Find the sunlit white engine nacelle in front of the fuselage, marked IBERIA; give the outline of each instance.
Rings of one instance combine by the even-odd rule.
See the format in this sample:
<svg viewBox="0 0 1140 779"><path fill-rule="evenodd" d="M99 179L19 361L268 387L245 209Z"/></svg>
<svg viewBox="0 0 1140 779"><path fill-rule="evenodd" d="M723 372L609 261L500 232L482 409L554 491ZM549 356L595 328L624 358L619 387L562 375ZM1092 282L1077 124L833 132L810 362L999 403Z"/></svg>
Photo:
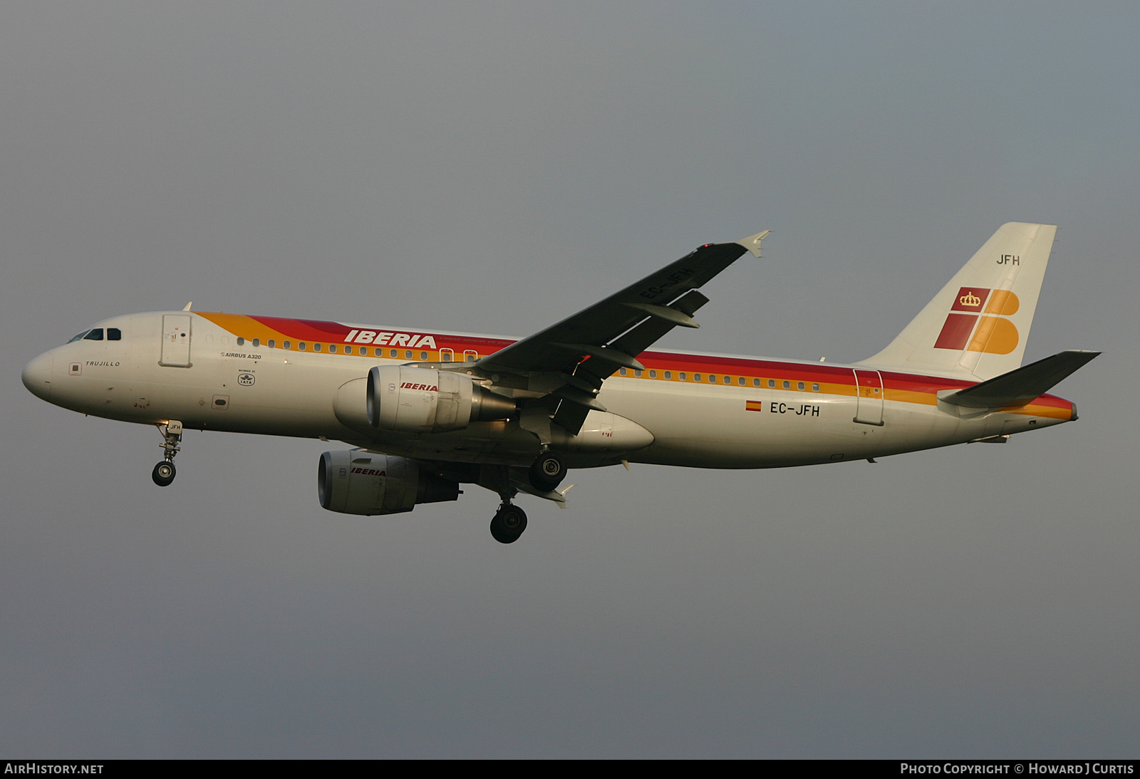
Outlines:
<svg viewBox="0 0 1140 779"><path fill-rule="evenodd" d="M376 366L368 371L368 423L398 433L459 430L473 421L506 419L514 401L469 376L414 366Z"/></svg>

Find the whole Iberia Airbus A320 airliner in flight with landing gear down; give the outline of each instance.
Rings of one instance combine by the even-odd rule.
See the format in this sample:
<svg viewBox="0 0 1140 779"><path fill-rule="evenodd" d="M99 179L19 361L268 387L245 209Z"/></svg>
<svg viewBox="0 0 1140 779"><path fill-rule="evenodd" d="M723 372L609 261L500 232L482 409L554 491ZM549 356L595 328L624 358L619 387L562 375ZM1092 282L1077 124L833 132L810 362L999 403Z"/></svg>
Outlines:
<svg viewBox="0 0 1140 779"><path fill-rule="evenodd" d="M502 499L500 543L527 528L522 492L565 507L570 468L646 462L776 468L1009 436L1077 418L1047 394L1099 352L1021 366L1057 228L1002 226L886 348L852 364L650 347L698 327L699 292L768 230L706 244L600 303L514 341L221 312L114 317L36 356L36 396L162 434L152 478L174 481L182 432L341 441L320 456L320 506L356 515Z"/></svg>

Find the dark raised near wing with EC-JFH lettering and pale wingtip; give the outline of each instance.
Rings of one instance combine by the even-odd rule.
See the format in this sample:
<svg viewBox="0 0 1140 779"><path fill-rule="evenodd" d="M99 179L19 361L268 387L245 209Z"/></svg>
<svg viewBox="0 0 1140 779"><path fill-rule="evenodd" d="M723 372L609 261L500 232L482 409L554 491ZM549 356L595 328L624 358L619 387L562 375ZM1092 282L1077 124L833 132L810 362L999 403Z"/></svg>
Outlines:
<svg viewBox="0 0 1140 779"><path fill-rule="evenodd" d="M516 395L548 399L543 404L546 413L539 416L553 409L553 421L576 435L591 409L605 410L596 400L602 382L619 368L641 369L637 355L674 327L698 327L692 315L708 302L698 288L746 252L760 256L760 240L768 232L706 244L604 301L487 355L474 368L497 386L519 391Z"/></svg>

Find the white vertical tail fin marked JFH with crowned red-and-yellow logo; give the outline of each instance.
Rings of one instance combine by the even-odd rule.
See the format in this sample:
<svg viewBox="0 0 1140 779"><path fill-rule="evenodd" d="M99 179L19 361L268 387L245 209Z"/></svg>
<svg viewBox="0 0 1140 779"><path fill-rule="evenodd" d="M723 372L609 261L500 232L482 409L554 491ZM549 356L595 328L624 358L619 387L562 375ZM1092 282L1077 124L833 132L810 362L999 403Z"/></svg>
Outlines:
<svg viewBox="0 0 1140 779"><path fill-rule="evenodd" d="M857 364L987 379L1020 367L1054 224L1002 224L887 348Z"/></svg>

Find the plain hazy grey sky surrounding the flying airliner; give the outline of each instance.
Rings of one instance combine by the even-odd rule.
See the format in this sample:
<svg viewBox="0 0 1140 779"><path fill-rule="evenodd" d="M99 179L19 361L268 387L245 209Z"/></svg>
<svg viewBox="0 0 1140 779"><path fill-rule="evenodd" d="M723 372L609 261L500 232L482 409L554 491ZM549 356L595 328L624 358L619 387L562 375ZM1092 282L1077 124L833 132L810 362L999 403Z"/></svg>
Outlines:
<svg viewBox="0 0 1140 779"><path fill-rule="evenodd" d="M34 756L1135 756L1134 3L10 3L0 745ZM99 319L526 335L715 240L663 344L857 360L1007 221L1074 425L329 514L329 444L27 393Z"/></svg>

